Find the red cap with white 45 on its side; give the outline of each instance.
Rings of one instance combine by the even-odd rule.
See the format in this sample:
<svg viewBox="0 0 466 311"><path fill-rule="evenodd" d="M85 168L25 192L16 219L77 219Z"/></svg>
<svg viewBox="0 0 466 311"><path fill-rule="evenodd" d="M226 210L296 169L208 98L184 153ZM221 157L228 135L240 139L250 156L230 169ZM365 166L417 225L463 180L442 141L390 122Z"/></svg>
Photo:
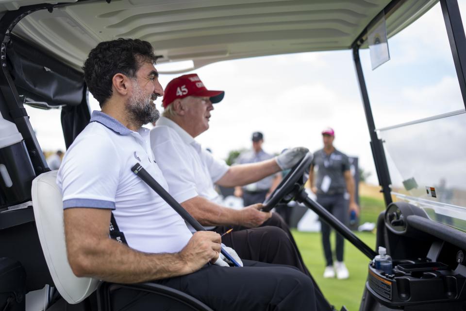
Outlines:
<svg viewBox="0 0 466 311"><path fill-rule="evenodd" d="M165 88L162 105L164 108L177 98L187 96L205 96L210 97L212 104L216 104L223 99L224 91L209 91L205 88L196 73L185 74L181 77L171 80Z"/></svg>

